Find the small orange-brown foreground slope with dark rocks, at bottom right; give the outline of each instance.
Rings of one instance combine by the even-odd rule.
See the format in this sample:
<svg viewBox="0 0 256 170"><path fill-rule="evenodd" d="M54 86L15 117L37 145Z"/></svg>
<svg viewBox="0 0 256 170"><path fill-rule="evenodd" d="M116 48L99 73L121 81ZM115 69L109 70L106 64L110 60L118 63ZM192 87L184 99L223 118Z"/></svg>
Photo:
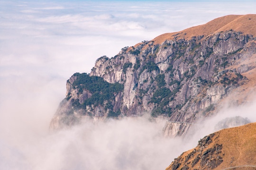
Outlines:
<svg viewBox="0 0 256 170"><path fill-rule="evenodd" d="M166 170L255 170L256 123L223 129L174 159Z"/></svg>

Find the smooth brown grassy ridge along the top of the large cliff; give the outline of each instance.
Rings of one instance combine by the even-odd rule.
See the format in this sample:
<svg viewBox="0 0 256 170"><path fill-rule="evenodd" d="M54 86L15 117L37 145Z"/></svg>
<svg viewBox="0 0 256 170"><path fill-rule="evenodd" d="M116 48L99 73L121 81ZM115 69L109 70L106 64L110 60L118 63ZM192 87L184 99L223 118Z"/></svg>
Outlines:
<svg viewBox="0 0 256 170"><path fill-rule="evenodd" d="M240 31L243 34L252 34L256 35L256 14L247 14L247 15L228 15L224 17L219 17L213 19L212 21L200 25L187 28L180 32L174 33L165 33L155 37L152 41L155 44L160 44L165 40L174 40L174 39L190 39L193 36L204 35L208 36L210 34L234 30Z"/></svg>

